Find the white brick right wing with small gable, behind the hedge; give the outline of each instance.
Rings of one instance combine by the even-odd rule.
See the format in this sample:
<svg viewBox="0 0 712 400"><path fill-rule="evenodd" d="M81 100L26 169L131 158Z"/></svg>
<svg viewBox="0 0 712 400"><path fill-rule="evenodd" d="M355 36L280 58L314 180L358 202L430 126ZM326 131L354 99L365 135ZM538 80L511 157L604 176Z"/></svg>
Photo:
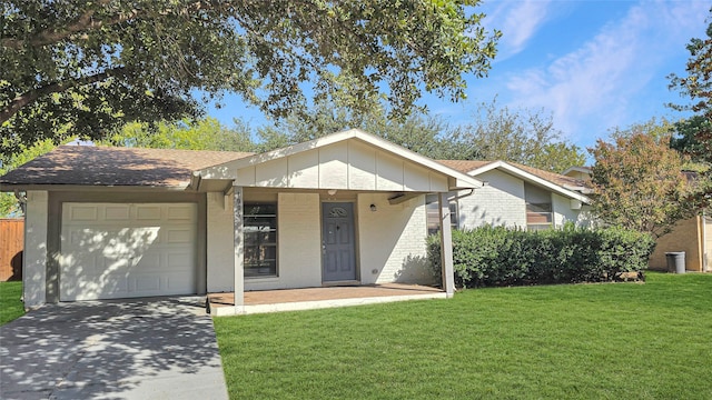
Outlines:
<svg viewBox="0 0 712 400"><path fill-rule="evenodd" d="M591 188L584 180L505 161L441 160L484 182L476 191L451 193L452 226L473 229L484 224L527 230L561 228L566 222L591 226ZM432 212L437 211L436 199ZM432 213L431 230L437 219Z"/></svg>

